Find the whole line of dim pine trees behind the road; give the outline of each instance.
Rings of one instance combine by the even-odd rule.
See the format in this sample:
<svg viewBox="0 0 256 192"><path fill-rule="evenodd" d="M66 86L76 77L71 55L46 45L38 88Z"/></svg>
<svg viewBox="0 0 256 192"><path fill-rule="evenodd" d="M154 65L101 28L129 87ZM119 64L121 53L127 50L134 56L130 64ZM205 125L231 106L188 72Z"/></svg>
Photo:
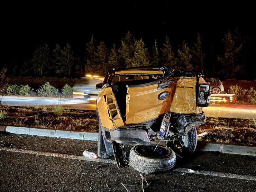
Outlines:
<svg viewBox="0 0 256 192"><path fill-rule="evenodd" d="M217 55L213 49L205 49L200 34L195 38L193 46L183 40L182 45L175 50L166 36L162 46L155 40L150 51L143 39L136 39L129 31L121 39L120 47L113 43L111 48L103 41L97 44L92 35L82 57L75 57L68 43L63 48L57 44L53 50L49 50L47 44L39 45L33 57L22 65L20 75L81 77L89 73L105 76L113 68L165 65L171 69L196 71L223 80L249 80L248 66L254 62L248 52L250 43L249 37L241 36L238 29L234 33L228 31L222 39L223 51Z"/></svg>

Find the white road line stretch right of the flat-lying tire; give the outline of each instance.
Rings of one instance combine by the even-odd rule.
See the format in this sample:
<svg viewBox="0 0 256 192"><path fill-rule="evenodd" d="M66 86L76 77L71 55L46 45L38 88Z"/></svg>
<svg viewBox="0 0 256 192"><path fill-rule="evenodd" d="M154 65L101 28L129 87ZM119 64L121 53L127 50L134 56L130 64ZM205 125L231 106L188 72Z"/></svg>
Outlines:
<svg viewBox="0 0 256 192"><path fill-rule="evenodd" d="M251 175L239 175L234 173L222 173L222 172L203 171L203 170L193 171L191 169L180 168L180 167L174 169L173 171L256 181L256 176L251 176Z"/></svg>

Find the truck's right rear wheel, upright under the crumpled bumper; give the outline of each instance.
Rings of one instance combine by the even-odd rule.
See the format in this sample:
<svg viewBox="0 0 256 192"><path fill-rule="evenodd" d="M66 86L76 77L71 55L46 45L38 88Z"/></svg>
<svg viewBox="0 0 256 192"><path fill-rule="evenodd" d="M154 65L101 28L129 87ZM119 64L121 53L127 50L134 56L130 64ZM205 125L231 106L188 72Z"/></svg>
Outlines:
<svg viewBox="0 0 256 192"><path fill-rule="evenodd" d="M182 136L182 140L176 143L176 147L179 148L184 155L191 154L195 152L197 140L196 128L193 127L189 130L187 135Z"/></svg>

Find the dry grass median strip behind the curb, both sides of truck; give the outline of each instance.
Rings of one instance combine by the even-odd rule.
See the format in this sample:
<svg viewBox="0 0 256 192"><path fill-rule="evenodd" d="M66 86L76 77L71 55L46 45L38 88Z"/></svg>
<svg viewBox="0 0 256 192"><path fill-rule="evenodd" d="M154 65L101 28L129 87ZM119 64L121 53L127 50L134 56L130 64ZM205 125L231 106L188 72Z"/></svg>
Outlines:
<svg viewBox="0 0 256 192"><path fill-rule="evenodd" d="M95 111L64 109L61 105L3 107L0 125L98 132ZM208 117L196 129L202 134L198 137L200 141L256 146L256 119Z"/></svg>

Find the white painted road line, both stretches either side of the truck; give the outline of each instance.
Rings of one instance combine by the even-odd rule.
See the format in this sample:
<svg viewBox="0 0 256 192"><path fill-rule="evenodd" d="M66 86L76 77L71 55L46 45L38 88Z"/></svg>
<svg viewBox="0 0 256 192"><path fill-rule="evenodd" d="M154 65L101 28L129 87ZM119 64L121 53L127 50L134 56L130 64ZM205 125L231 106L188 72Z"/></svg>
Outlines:
<svg viewBox="0 0 256 192"><path fill-rule="evenodd" d="M18 152L18 153L28 153L28 154L34 154L34 155L61 157L61 158L68 158L68 159L77 159L77 160L83 160L83 161L94 161L94 162L116 164L116 161L112 160L112 159L102 159L102 158L92 159L92 158L88 158L88 157L84 157L84 156L40 152L40 151L34 151L34 150L16 149L16 148L9 148L9 147L0 147L0 150L10 151L10 152ZM188 168L180 168L180 167L175 168L172 171L256 181L256 176L251 176L251 175L239 175L239 174L233 174L233 173L222 173L222 172L203 171L203 170L193 171Z"/></svg>

